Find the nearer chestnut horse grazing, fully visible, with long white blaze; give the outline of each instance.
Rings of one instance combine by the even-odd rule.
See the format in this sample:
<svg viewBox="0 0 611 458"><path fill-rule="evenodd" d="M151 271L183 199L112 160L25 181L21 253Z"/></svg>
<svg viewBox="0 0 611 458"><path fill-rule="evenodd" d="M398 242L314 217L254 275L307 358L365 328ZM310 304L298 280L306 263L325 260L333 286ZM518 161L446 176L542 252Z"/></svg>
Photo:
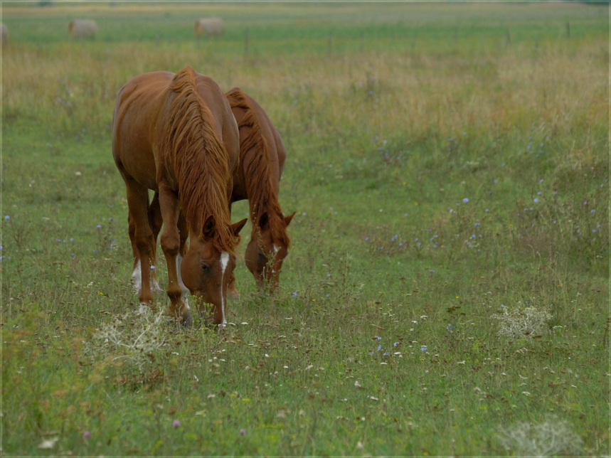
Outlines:
<svg viewBox="0 0 611 458"><path fill-rule="evenodd" d="M161 249L168 266L169 314L190 322L191 292L200 314L204 303L212 304L213 323L224 327L235 247L246 220L232 225L230 219L239 145L238 127L223 92L191 67L130 80L117 95L112 154L127 188L133 277L141 310L153 302L153 228L159 218L155 223L150 211L152 189L159 196L164 223Z"/></svg>

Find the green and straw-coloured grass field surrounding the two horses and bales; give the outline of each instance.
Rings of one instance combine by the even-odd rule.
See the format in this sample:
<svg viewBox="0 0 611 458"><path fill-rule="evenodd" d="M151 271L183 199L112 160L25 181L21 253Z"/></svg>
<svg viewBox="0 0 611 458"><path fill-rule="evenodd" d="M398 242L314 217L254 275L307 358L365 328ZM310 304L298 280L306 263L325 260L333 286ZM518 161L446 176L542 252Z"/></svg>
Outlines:
<svg viewBox="0 0 611 458"><path fill-rule="evenodd" d="M4 454L609 454L608 18L4 3ZM185 65L265 108L297 211L274 296L243 230L222 332L134 314L110 149L119 87Z"/></svg>

